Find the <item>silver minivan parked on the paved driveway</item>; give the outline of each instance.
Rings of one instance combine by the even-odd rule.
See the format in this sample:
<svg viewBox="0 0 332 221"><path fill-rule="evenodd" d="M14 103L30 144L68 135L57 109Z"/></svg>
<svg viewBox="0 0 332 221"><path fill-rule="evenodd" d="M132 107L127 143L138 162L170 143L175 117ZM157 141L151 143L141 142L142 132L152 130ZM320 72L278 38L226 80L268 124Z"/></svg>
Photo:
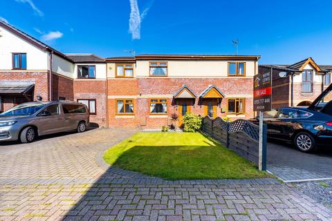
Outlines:
<svg viewBox="0 0 332 221"><path fill-rule="evenodd" d="M27 102L0 114L0 141L33 142L39 135L84 132L89 126L85 104L68 101Z"/></svg>

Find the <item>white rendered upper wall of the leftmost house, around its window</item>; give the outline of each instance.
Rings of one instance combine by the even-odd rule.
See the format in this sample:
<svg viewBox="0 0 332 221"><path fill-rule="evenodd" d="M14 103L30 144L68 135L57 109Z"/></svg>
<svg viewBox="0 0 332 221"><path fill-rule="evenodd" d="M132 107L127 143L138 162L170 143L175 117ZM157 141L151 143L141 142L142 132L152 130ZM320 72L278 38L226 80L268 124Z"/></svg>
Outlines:
<svg viewBox="0 0 332 221"><path fill-rule="evenodd" d="M48 52L0 27L0 70L12 70L12 53L26 53L27 70L48 70Z"/></svg>

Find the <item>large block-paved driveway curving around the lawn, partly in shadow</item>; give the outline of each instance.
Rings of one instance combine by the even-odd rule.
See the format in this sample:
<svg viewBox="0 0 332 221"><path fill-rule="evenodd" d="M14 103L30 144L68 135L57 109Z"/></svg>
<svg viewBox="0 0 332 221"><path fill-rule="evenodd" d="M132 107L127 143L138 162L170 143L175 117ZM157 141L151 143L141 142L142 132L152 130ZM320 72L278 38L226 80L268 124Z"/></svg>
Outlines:
<svg viewBox="0 0 332 221"><path fill-rule="evenodd" d="M107 166L135 130L101 128L0 146L0 220L332 220L274 179L165 181Z"/></svg>

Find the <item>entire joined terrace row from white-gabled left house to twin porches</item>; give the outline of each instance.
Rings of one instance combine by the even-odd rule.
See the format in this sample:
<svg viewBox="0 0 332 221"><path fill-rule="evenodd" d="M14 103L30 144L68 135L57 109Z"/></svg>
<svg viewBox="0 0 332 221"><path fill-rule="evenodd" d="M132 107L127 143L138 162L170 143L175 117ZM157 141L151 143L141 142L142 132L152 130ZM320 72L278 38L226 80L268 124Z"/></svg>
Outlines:
<svg viewBox="0 0 332 221"><path fill-rule="evenodd" d="M160 128L185 113L249 118L259 56L64 54L0 21L0 111L37 99L89 107L99 126Z"/></svg>

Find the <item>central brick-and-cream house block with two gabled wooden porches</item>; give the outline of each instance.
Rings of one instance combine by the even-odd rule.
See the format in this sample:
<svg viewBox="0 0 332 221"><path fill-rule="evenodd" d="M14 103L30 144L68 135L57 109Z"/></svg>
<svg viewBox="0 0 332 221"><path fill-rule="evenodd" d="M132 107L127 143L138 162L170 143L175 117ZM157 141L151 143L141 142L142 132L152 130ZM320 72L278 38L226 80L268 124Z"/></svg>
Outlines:
<svg viewBox="0 0 332 221"><path fill-rule="evenodd" d="M253 117L252 84L259 56L137 55L107 61L109 125L169 125L187 112Z"/></svg>

